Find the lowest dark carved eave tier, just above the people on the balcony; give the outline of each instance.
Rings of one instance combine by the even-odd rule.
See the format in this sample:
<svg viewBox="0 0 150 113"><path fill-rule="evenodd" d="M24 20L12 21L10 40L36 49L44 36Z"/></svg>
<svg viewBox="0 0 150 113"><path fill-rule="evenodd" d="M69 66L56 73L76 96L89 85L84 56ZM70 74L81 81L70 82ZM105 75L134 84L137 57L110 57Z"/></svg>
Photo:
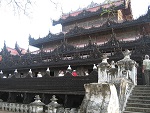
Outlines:
<svg viewBox="0 0 150 113"><path fill-rule="evenodd" d="M64 41L51 52L41 51L39 54L26 53L22 56L2 55L0 70L47 67L47 65L56 67L59 64L68 65L71 63L83 65L83 62L84 64L93 64L101 60L102 53L108 52L111 60L122 58L122 50L125 49L132 50L131 57L133 59L141 59L143 54L150 54L150 36L140 36L134 41L118 41L113 32L109 41L104 45L96 45L89 40L86 46L79 48L69 45L67 41Z"/></svg>

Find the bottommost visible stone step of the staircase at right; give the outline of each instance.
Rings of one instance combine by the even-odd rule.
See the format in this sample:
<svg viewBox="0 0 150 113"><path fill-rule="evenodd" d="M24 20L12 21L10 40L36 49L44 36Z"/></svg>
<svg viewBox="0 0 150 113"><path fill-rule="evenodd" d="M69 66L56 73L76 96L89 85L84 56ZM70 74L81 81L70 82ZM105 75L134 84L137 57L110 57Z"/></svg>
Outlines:
<svg viewBox="0 0 150 113"><path fill-rule="evenodd" d="M140 108L140 107L126 107L126 111L131 111L131 112L149 112L150 113L150 108Z"/></svg>

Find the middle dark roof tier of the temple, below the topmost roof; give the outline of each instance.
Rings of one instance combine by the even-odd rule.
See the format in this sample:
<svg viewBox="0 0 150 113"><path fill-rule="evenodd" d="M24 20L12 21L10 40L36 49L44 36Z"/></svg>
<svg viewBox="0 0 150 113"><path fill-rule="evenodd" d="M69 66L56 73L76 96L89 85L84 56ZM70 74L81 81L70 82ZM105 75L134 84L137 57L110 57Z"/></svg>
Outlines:
<svg viewBox="0 0 150 113"><path fill-rule="evenodd" d="M48 42L53 42L53 41L61 41L65 39L70 39L70 38L76 38L77 36L82 36L82 35L87 35L89 36L90 34L93 33L110 33L111 29L115 30L124 30L125 28L142 28L145 24L148 24L150 22L150 10L147 12L147 14L140 16L136 20L128 20L128 21L123 21L123 22L116 22L113 20L108 19L105 21L102 25L99 25L97 27L91 27L88 29L82 28L75 26L73 29L71 29L69 32L63 34L49 34L46 37L39 38L39 39L34 39L31 36L29 37L29 44L35 47L41 48L42 45ZM148 30L148 29L147 29Z"/></svg>

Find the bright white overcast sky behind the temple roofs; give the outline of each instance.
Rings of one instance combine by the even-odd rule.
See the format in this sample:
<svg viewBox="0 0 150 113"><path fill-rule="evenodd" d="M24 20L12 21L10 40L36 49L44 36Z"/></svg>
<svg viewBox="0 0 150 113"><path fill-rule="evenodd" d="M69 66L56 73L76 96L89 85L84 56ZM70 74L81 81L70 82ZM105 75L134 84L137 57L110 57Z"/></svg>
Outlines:
<svg viewBox="0 0 150 113"><path fill-rule="evenodd" d="M32 0L31 0L32 1ZM61 31L61 26L53 27L51 19L58 19L63 12L74 11L80 7L88 6L92 0L53 0L59 4L55 7L49 0L36 0L27 10L28 16L20 13L15 14L13 9L7 4L0 6L0 48L3 47L4 40L6 45L14 48L15 43L25 49L28 48L28 37L31 34L34 38L44 37L49 31L57 33ZM93 0L100 3L104 0ZM134 18L145 14L150 5L150 0L131 0ZM31 48L31 47L30 47Z"/></svg>

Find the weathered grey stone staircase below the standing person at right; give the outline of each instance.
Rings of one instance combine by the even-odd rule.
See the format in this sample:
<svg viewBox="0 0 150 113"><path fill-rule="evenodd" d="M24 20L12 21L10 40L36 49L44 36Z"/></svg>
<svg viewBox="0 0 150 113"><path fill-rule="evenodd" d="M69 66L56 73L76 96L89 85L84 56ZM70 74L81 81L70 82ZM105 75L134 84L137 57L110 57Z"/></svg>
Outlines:
<svg viewBox="0 0 150 113"><path fill-rule="evenodd" d="M123 113L150 113L150 86L135 86Z"/></svg>

